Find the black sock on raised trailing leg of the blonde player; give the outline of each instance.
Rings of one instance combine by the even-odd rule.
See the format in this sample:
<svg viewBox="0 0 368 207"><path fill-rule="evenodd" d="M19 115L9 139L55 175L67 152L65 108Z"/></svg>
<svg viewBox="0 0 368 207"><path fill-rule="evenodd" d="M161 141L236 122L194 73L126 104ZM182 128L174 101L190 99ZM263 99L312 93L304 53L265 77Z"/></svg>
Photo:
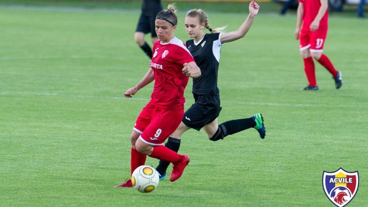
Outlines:
<svg viewBox="0 0 368 207"><path fill-rule="evenodd" d="M220 124L218 127L221 128L221 133L223 137L225 137L227 135L235 134L245 129L254 128L255 126L256 122L251 117L245 119L230 120Z"/></svg>

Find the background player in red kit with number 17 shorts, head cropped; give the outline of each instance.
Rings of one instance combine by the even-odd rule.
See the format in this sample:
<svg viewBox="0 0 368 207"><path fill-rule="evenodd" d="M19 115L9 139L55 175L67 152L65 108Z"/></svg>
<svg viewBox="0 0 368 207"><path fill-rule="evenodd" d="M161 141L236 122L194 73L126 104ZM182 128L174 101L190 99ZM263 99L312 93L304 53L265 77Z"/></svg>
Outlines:
<svg viewBox="0 0 368 207"><path fill-rule="evenodd" d="M309 85L303 90L318 90L313 58L331 73L335 79L336 89L342 86L341 72L337 71L330 59L322 54L328 29L327 9L327 0L299 0L296 12L295 39L300 40L299 50L304 60L304 71L309 82Z"/></svg>

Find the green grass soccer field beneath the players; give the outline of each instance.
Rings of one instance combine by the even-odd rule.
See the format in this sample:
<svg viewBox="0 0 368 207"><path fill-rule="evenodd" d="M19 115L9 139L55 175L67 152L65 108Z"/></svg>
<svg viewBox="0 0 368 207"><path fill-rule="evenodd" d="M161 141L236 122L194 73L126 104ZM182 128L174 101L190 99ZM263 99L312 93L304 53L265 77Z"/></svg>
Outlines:
<svg viewBox="0 0 368 207"><path fill-rule="evenodd" d="M129 177L131 130L152 92L122 96L148 66L133 42L138 15L0 8L0 206L331 207L322 173L340 167L360 175L349 206L368 206L368 21L338 15L324 52L342 71L340 90L316 64L320 90L300 91L295 17L260 13L245 38L222 47L219 122L262 112L266 138L248 129L211 142L190 130L181 179L150 194L113 188ZM209 12L211 26L227 31L246 15Z"/></svg>

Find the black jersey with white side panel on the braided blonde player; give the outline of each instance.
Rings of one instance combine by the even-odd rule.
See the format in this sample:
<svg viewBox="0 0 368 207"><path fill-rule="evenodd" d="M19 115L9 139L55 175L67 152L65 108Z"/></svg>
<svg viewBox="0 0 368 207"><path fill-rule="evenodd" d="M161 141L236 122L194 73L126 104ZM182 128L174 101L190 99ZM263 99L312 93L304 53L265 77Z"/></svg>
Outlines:
<svg viewBox="0 0 368 207"><path fill-rule="evenodd" d="M218 95L217 73L220 62L220 34L205 34L202 41L197 45L194 40L186 41L186 47L194 57L202 75L199 78L193 78L192 92L196 94Z"/></svg>

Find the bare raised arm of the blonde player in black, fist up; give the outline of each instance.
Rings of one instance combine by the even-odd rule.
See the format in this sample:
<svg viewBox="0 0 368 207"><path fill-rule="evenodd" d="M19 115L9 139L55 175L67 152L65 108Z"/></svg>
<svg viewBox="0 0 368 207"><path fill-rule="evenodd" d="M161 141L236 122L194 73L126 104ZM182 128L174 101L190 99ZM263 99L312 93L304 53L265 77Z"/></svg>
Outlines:
<svg viewBox="0 0 368 207"><path fill-rule="evenodd" d="M249 31L250 27L253 24L254 19L256 18L256 15L258 14L258 10L260 9L260 6L255 0L252 0L249 3L249 15L247 19L244 21L244 23L237 29L237 31L232 31L228 33L221 34L221 44L232 42L237 39L240 39L245 36L245 34Z"/></svg>

